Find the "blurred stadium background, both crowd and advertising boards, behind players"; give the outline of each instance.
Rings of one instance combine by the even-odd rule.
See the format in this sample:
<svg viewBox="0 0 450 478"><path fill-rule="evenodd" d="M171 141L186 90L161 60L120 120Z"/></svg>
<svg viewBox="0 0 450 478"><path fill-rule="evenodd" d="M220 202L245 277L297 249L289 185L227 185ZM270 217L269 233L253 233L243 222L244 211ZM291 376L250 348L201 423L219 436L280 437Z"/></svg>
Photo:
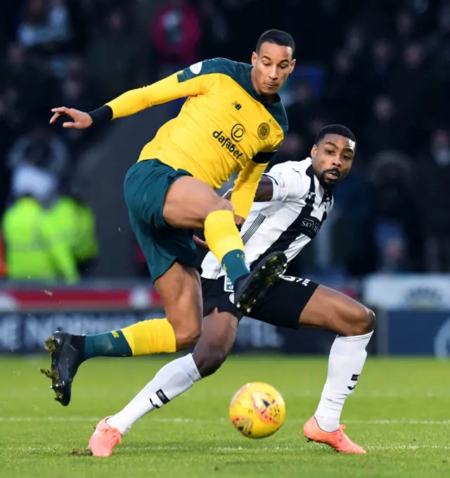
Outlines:
<svg viewBox="0 0 450 478"><path fill-rule="evenodd" d="M49 128L50 108L89 111L205 58L250 61L259 34L273 27L297 43L283 90L290 132L276 161L306 157L331 122L359 140L333 214L290 273L375 308L373 353L449 356L446 0L280 0L276 11L265 0L1 2L1 214L27 188L39 201L77 189L94 211L99 248L72 285L18 283L4 264L0 351L42 351L58 327L94 333L161 316L122 182L182 101L82 134ZM327 354L332 340L247 320L236 351Z"/></svg>

